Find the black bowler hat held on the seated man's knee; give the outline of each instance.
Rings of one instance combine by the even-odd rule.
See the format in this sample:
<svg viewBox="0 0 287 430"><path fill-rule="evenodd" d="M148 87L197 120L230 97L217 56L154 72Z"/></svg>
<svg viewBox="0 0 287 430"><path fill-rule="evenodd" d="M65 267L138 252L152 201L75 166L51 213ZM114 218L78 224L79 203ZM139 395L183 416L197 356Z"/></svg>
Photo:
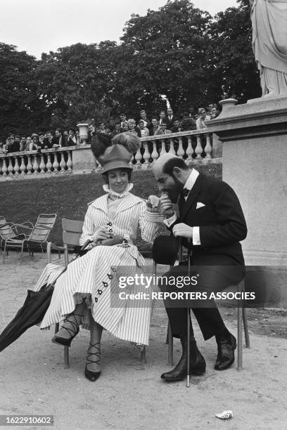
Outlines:
<svg viewBox="0 0 287 430"><path fill-rule="evenodd" d="M179 254L179 237L155 237L152 254L155 263L173 266Z"/></svg>

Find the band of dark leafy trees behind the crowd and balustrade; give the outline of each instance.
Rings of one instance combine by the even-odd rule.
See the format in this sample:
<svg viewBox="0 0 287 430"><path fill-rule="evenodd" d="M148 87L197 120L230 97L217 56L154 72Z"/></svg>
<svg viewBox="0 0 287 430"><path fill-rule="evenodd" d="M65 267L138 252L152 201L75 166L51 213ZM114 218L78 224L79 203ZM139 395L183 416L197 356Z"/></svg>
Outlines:
<svg viewBox="0 0 287 430"><path fill-rule="evenodd" d="M235 96L260 96L250 6L238 0L212 18L190 0L167 0L158 11L132 15L120 41L75 44L36 60L0 44L1 134L67 129L121 111L149 115ZM4 124L4 125L3 125Z"/></svg>

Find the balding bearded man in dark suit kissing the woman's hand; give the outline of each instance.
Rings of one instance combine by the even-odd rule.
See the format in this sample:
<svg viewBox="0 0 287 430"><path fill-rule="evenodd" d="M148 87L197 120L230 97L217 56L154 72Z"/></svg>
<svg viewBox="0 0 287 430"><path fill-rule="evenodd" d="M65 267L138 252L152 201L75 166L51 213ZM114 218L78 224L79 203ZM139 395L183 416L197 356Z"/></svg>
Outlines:
<svg viewBox="0 0 287 430"><path fill-rule="evenodd" d="M192 265L196 266L196 286L181 291L218 292L238 283L244 276L244 259L240 241L247 234L241 205L234 190L222 181L189 169L183 159L163 154L154 164L153 173L162 196L158 211L165 216L165 224L175 237L181 237L184 247L190 248ZM172 203L179 204L179 217ZM175 266L170 276L187 275L186 266ZM160 285L164 291L179 291L169 282ZM209 297L209 295L208 295ZM187 308L169 307L165 301L172 334L181 339L183 353L177 366L162 374L162 379L177 381L186 376ZM208 306L208 307L207 307ZM215 336L218 355L216 370L227 369L234 363L235 337L225 327L214 301L191 304L205 340ZM205 372L205 360L198 351L191 326L191 374Z"/></svg>

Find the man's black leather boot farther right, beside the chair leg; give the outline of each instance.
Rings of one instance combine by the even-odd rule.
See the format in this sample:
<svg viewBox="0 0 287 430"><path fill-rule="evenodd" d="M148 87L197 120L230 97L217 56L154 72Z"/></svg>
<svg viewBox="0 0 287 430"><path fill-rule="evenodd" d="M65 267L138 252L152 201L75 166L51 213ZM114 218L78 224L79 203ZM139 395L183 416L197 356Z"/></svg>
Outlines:
<svg viewBox="0 0 287 430"><path fill-rule="evenodd" d="M236 338L228 331L216 337L217 341L217 359L215 370L228 369L234 363L234 351L236 349Z"/></svg>

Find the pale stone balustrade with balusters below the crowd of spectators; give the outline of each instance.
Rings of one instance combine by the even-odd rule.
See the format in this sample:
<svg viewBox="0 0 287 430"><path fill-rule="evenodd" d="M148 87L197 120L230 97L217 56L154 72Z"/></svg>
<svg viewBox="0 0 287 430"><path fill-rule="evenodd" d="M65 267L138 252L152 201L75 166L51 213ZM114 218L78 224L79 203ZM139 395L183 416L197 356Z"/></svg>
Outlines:
<svg viewBox="0 0 287 430"><path fill-rule="evenodd" d="M151 168L165 152L177 154L186 162L210 162L212 158L222 156L218 139L208 129L141 138L141 143L141 148L131 160L136 169ZM91 173L100 168L90 145L0 155L0 181Z"/></svg>

